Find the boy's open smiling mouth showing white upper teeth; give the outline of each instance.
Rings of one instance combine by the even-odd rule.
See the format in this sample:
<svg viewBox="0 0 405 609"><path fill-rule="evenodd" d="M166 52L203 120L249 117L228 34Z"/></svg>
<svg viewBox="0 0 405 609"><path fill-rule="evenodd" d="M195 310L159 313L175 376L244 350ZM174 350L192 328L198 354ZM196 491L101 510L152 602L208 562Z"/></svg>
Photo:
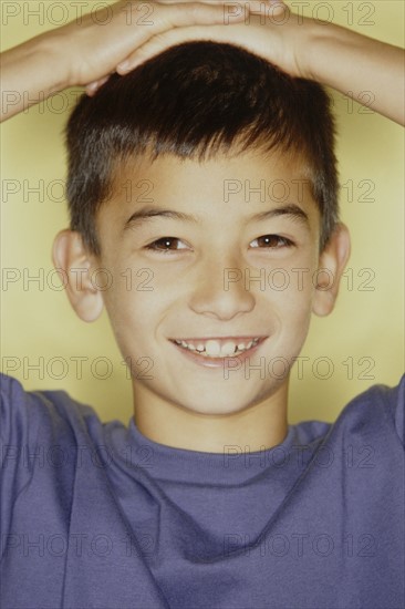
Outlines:
<svg viewBox="0 0 405 609"><path fill-rule="evenodd" d="M237 358L266 339L267 337L235 337L225 339L170 339L170 341L195 355L221 360L224 358Z"/></svg>

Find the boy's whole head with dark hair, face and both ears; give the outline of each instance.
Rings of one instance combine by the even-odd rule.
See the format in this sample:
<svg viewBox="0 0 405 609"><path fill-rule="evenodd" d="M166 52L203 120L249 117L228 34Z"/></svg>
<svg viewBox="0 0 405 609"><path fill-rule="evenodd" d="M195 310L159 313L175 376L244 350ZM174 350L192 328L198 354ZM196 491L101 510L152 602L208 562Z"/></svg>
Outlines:
<svg viewBox="0 0 405 609"><path fill-rule="evenodd" d="M138 412L285 401L349 255L333 140L319 85L229 44L172 48L79 103L54 260L82 319L105 306Z"/></svg>

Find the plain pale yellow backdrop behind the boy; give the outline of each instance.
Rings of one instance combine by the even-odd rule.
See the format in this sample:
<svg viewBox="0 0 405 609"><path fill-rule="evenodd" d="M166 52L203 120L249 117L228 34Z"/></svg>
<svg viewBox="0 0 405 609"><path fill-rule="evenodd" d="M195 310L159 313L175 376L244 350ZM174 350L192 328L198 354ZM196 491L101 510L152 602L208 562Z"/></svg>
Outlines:
<svg viewBox="0 0 405 609"><path fill-rule="evenodd" d="M13 4L20 6L21 11L9 19L7 27L4 13L2 16L3 49L49 30L63 19L63 12L58 9L51 13L53 22L48 19L46 10L42 24L39 22L41 16L33 16L32 11L41 9L40 4L46 9L52 2L21 0ZM23 4L30 8L29 19L27 14L24 19ZM64 4L73 19L74 2L64 0ZM353 18L351 27L359 32L403 45L402 0L333 0L310 4L305 14L315 11L315 17L328 19L329 10L333 10L334 22L347 25ZM19 193L9 195L8 200L4 196L2 198L3 272L11 268L18 269L22 277L24 273L25 277L38 276L39 272L44 277L43 289L38 282L24 289L21 279L10 283L2 293L2 363L10 362L6 358L15 358L19 369L12 375L27 390L63 389L76 400L93 405L102 420L120 419L127 423L133 412L131 382L126 380L106 314L93 324L84 323L75 317L65 293L48 286L52 279L54 286L59 286L55 277L50 275L50 252L54 235L68 226L65 205L58 200L61 196L58 180L65 178L63 127L70 110L63 111L63 106L72 106L76 92L66 91L53 101L31 107L1 127L3 195L4 187L10 184L21 188ZM339 127L341 183L353 185L352 202L347 188L341 196L342 219L352 233L353 249L349 262L352 270L343 280L332 316L313 318L301 353L309 358L304 363L303 379L298 378L297 368L292 370L290 423L309 419L334 421L350 399L375 383L397 384L404 369L403 130L376 114L360 113L360 106L356 103L351 106L341 94L333 94L333 99ZM41 179L43 193L27 196L27 187L38 186ZM23 180L27 180L25 186ZM362 180L372 180L375 189L368 197L375 200L364 200L371 183ZM28 200L24 200L24 195ZM370 273L375 273L368 283L374 290L365 291ZM353 286L350 286L352 280ZM24 358L31 363L43 358L44 379L40 379L35 371L24 370ZM55 378L62 373L62 368L53 358L63 358L66 362L65 378ZM76 375L74 362L77 358L86 358L82 379ZM91 373L92 365L98 376L106 370L97 358L108 358L112 362L113 372L106 380L96 379ZM332 362L333 370L330 369L330 378L322 379L319 376L328 374L325 362ZM49 365L51 375L46 373ZM4 365L2 369L6 371Z"/></svg>

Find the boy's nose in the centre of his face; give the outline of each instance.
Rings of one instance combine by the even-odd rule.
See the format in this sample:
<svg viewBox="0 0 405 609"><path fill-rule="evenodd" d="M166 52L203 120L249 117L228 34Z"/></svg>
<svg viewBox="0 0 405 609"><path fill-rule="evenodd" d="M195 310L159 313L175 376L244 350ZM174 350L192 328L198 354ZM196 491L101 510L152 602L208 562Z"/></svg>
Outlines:
<svg viewBox="0 0 405 609"><path fill-rule="evenodd" d="M193 311L221 321L250 312L256 301L246 289L243 271L240 261L238 266L237 260L218 255L201 261L189 301Z"/></svg>

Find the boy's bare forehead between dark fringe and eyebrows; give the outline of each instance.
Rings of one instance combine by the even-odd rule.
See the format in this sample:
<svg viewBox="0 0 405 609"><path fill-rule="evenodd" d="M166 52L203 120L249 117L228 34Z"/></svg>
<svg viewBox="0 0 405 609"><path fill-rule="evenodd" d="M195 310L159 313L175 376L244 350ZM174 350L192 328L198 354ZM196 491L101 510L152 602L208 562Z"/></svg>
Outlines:
<svg viewBox="0 0 405 609"><path fill-rule="evenodd" d="M207 219L226 214L235 221L280 205L319 214L307 164L282 152L216 154L204 162L174 155L153 162L147 156L129 158L115 164L112 178L111 196L100 211L102 221L122 221L146 204Z"/></svg>

